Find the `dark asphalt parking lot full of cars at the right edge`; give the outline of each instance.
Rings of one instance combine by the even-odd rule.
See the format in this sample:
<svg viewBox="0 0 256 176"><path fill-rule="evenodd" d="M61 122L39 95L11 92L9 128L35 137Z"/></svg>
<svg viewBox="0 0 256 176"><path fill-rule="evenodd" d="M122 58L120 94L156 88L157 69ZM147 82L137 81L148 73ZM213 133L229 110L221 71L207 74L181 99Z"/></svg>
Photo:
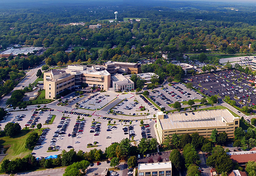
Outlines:
<svg viewBox="0 0 256 176"><path fill-rule="evenodd" d="M238 79L241 80L238 81ZM192 82L195 88L200 88L200 91L208 96L216 94L220 99L229 96L231 100L236 101L236 106L242 107L247 104L249 106L256 104L254 88L247 85L250 79L255 78L238 71L225 70L189 76L184 81Z"/></svg>

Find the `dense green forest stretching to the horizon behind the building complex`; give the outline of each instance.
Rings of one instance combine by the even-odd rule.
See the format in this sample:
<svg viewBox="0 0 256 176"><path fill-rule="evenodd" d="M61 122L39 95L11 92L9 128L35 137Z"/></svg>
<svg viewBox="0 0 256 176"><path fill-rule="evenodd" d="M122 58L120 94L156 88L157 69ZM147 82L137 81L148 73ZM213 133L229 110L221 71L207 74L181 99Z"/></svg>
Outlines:
<svg viewBox="0 0 256 176"><path fill-rule="evenodd" d="M15 58L1 58L0 72L4 74L0 81L4 81L3 84L6 80L17 81L22 77L24 73L21 72L14 78L13 72L18 73L17 69L31 68L42 60L48 65L61 66L106 60L138 62L142 57L161 58L164 53L170 61L172 58L183 60L184 54L256 51L256 7L250 4L154 0L150 3L128 0L86 4L78 1L61 5L58 1L8 4L4 2L0 7L0 50L20 44L43 46L46 52L40 56L31 53L28 57L21 54ZM106 20L113 19L115 11L119 12L117 21ZM136 21L134 18L142 19ZM84 25L69 25L72 22L83 22ZM92 24L101 24L102 28L92 30L89 28ZM84 48L66 53L69 46ZM102 49L98 50L99 47ZM218 64L214 57L201 56L191 59ZM174 77L167 66L167 62L158 60L158 64L144 70L154 70L162 82L166 76ZM173 66L169 64L169 67ZM176 70L179 72L179 68ZM8 89L1 90L1 87L0 95L12 90L15 83L12 82Z"/></svg>

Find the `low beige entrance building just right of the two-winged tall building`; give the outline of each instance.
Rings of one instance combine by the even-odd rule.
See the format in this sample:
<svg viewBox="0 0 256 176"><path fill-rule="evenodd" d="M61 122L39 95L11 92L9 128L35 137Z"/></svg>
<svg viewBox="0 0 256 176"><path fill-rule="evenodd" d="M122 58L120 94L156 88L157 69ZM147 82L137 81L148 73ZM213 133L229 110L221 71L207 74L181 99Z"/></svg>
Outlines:
<svg viewBox="0 0 256 176"><path fill-rule="evenodd" d="M123 91L134 89L134 82L129 77L122 74L115 74L111 76L113 91Z"/></svg>

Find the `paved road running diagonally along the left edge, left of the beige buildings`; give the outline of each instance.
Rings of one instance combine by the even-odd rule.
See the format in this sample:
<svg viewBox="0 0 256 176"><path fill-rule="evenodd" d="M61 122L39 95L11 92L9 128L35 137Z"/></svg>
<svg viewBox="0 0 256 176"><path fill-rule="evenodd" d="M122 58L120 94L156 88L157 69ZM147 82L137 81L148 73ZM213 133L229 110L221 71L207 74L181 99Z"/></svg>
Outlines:
<svg viewBox="0 0 256 176"><path fill-rule="evenodd" d="M45 64L45 63L43 63L42 65L44 65L44 64ZM0 108L5 108L5 107L6 107L5 102L6 102L7 99L9 99L9 98L11 97L12 92L13 92L14 90L22 89L22 86L27 87L30 83L33 83L33 82L36 80L36 78L37 78L36 72L37 72L39 69L41 69L41 68L42 68L42 67L34 68L34 69L29 70L29 72L26 72L25 78L23 78L23 79L19 82L19 84L18 84L9 94L7 94L6 96L4 96L4 97L2 98L2 100L0 100Z"/></svg>

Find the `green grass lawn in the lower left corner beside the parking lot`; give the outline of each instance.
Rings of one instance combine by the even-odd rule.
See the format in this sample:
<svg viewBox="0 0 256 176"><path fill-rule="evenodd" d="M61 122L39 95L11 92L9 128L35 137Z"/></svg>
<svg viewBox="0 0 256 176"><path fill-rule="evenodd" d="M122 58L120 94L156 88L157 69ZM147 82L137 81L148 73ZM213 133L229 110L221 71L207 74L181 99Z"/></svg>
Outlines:
<svg viewBox="0 0 256 176"><path fill-rule="evenodd" d="M41 132L42 132L41 128ZM38 129L34 129L34 132L38 132ZM10 138L8 136L4 136L0 138L0 144L1 146L8 147L8 150L6 151L6 155L3 160L9 159L14 160L15 158L22 158L32 152L32 150L28 150L25 148L26 139L28 136L32 133L32 130L29 130L28 132L26 130L21 130L20 134L14 138ZM2 160L2 161L3 161Z"/></svg>

